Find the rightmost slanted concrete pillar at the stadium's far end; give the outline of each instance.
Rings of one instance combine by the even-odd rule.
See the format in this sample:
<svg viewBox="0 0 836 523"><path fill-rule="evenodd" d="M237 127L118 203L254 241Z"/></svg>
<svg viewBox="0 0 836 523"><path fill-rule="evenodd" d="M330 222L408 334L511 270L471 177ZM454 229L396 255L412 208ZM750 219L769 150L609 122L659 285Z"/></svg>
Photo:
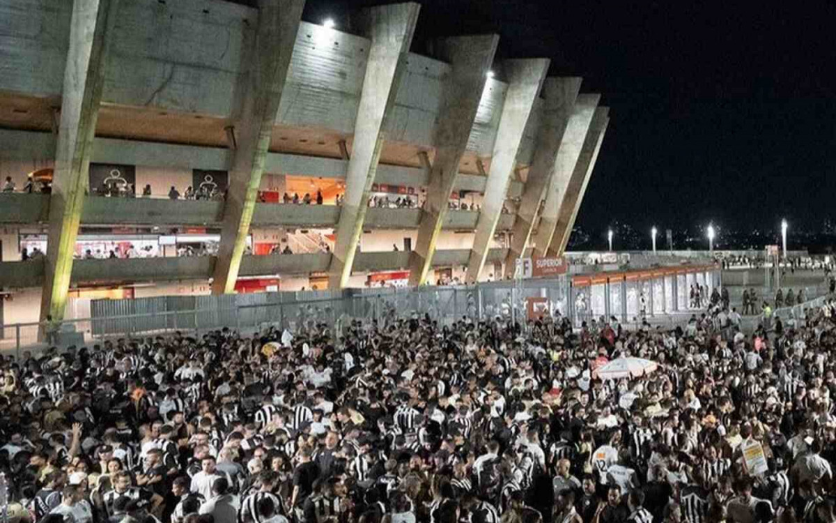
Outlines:
<svg viewBox="0 0 836 523"><path fill-rule="evenodd" d="M575 218L578 217L580 203L584 200L586 186L589 184L589 178L592 177L608 124L609 107L599 107L595 110L592 122L589 124L589 131L586 133L584 146L581 147L578 163L575 164L572 178L566 188L566 196L563 197L563 203L560 205L558 225L554 229L552 244L548 248L549 255L562 256L566 250L566 244L568 244L569 236L572 235Z"/></svg>

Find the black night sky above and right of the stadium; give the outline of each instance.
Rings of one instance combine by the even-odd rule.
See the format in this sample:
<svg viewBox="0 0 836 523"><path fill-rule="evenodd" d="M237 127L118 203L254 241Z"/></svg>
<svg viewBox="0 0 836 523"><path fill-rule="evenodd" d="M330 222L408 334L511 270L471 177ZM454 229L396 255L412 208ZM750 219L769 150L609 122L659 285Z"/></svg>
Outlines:
<svg viewBox="0 0 836 523"><path fill-rule="evenodd" d="M349 23L380 0L308 0ZM412 50L435 36L500 34L497 58L552 59L610 109L579 213L693 228L820 229L836 195L836 3L421 0Z"/></svg>

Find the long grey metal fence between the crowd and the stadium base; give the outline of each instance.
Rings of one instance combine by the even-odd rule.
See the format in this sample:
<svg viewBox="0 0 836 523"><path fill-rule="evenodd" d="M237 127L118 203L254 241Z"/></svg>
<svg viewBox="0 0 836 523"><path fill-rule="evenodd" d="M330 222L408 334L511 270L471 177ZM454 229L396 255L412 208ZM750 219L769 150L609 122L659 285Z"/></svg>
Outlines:
<svg viewBox="0 0 836 523"><path fill-rule="evenodd" d="M258 331L268 326L293 331L314 320L334 327L339 321L394 320L429 315L448 325L469 317L502 316L521 320L529 297L544 299L550 313L567 313L568 277L502 281L456 287L302 291L222 296L165 296L137 300L93 300L90 317L46 326L38 323L3 327L0 351L49 345L79 345L105 338L155 336L183 331L201 336L230 327Z"/></svg>

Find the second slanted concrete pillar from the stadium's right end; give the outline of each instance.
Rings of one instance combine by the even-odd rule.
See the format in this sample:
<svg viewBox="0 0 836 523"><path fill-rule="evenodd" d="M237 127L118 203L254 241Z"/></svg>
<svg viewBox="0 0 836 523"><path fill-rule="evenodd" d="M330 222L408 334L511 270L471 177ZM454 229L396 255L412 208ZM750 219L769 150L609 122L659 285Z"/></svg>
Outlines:
<svg viewBox="0 0 836 523"><path fill-rule="evenodd" d="M546 190L546 202L540 212L540 224L534 241L534 252L538 256L545 256L548 245L552 241L554 228L558 224L558 213L563 195L566 193L569 179L572 177L575 164L578 162L580 150L584 146L584 138L589 131L589 123L601 95L578 95L569 117L566 132L558 151L558 159L554 163L554 172Z"/></svg>

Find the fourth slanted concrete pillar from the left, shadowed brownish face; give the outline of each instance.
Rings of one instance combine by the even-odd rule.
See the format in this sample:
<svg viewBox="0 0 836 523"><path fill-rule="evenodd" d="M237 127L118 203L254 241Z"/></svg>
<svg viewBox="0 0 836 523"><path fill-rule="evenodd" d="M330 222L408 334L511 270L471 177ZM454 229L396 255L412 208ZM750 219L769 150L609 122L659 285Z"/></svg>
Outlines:
<svg viewBox="0 0 836 523"><path fill-rule="evenodd" d="M448 38L441 42L441 59L451 64L452 70L436 126L436 157L430 167L424 212L415 250L410 253L410 285L426 283L461 156L476 120L479 100L487 89L487 73L498 42L495 34Z"/></svg>

